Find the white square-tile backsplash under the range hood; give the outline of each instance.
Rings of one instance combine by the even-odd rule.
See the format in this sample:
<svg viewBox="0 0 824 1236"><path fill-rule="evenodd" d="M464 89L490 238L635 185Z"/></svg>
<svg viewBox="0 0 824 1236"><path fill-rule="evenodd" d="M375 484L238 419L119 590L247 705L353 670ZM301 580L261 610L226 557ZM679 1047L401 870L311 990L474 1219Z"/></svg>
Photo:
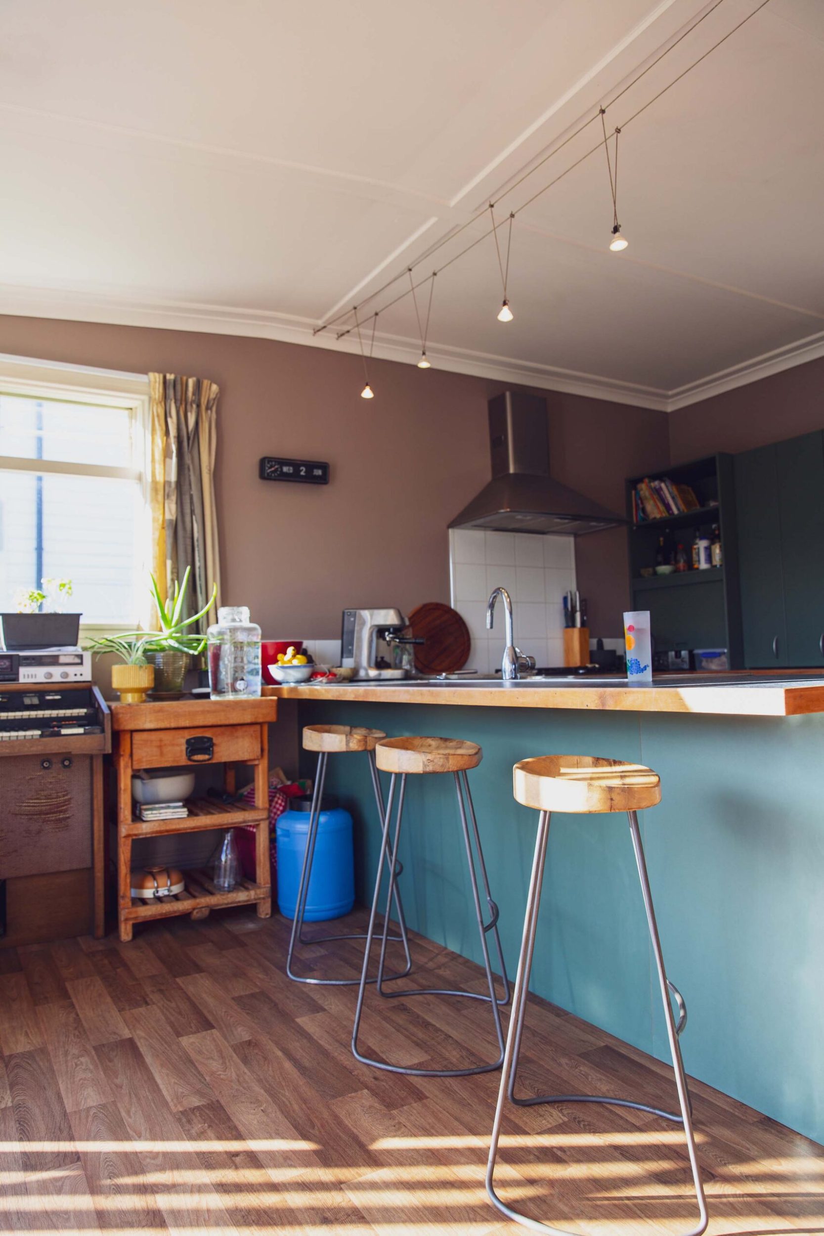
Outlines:
<svg viewBox="0 0 824 1236"><path fill-rule="evenodd" d="M483 574L482 574L483 572ZM487 630L487 599L504 587L513 601L515 643L537 665L563 664L562 597L576 587L574 539L530 533L450 531L452 606L472 635L467 666L489 674L503 656L503 613Z"/></svg>

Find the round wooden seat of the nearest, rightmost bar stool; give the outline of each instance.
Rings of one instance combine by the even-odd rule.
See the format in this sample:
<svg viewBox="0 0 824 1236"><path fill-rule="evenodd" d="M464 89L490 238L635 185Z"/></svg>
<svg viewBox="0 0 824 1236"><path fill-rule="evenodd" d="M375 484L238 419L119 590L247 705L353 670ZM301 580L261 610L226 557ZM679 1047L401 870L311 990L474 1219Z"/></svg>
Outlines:
<svg viewBox="0 0 824 1236"><path fill-rule="evenodd" d="M537 755L513 768L513 794L535 811L641 811L661 802L661 779L642 764L599 755Z"/></svg>

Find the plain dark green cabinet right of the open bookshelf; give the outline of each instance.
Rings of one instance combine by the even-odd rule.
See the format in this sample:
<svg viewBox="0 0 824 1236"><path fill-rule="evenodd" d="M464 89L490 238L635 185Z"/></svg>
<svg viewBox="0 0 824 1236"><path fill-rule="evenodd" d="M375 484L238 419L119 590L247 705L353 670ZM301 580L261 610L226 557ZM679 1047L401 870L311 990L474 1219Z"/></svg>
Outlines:
<svg viewBox="0 0 824 1236"><path fill-rule="evenodd" d="M747 669L824 662L824 431L735 456Z"/></svg>

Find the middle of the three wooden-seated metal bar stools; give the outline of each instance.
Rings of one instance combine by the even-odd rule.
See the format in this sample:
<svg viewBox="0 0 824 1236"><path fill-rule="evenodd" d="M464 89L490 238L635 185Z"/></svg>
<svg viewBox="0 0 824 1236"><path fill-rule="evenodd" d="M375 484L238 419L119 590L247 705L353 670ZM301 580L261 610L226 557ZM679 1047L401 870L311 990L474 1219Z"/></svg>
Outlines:
<svg viewBox="0 0 824 1236"><path fill-rule="evenodd" d="M434 1078L461 1078L469 1077L474 1073L492 1073L494 1069L500 1068L504 1058L504 1036L500 1026L500 1012L499 1005L505 1005L509 1002L509 980L507 978L507 968L504 965L504 955L500 948L500 937L498 934L498 906L492 899L492 891L489 889L489 878L487 875L487 866L483 860L483 850L481 848L481 836L478 833L478 822L474 815L474 806L472 803L472 795L469 792L469 781L467 779L468 769L477 768L483 759L483 751L476 743L467 743L460 738L383 738L376 747L376 760L377 766L384 771L390 772L392 779L389 781L389 795L387 797L387 810L383 817L383 838L380 844L380 859L378 861L378 878L374 885L374 896L372 899L372 911L369 915L369 929L367 932L366 950L363 954L363 970L361 974L361 989L358 991L357 1009L355 1011L355 1026L352 1028L352 1053L356 1059L361 1060L362 1064L371 1064L376 1069L387 1069L389 1073L406 1073L411 1077L434 1077ZM397 869L398 869L398 842L400 840L400 823L404 810L404 796L406 791L406 777L416 774L436 774L436 772L451 772L455 777L455 789L458 800L458 812L461 816L461 827L463 829L463 842L466 845L467 863L469 866L469 881L472 884L472 897L474 901L474 912L478 922L478 932L481 936L481 950L483 953L483 964L487 971L487 985L489 994L484 995L476 991L452 991L444 988L429 988L426 990L413 988L404 991L384 991L383 990L383 968L384 958L387 952L387 929L388 929L388 912L384 915L383 932L380 938L380 957L378 962L378 975L377 975L377 989L383 996L463 996L468 1000L483 1000L492 1007L492 1018L494 1022L495 1035L498 1038L499 1056L498 1059L492 1064L478 1064L466 1069L418 1069L409 1068L403 1064L388 1064L385 1060L373 1060L368 1056L361 1054L357 1046L358 1030L361 1026L361 1014L363 1011L363 996L366 993L367 984L367 970L369 968L369 953L372 949L372 941L376 932L376 918L378 915L378 902L380 897L380 876L383 871L384 861L389 863L389 889L387 892L387 911L392 905L392 896L394 885L397 881ZM392 821L392 808L395 801L395 786L400 777L400 787L398 790L398 807L395 815L395 827L394 837L392 839L392 857L389 857L390 842L390 821ZM473 850L474 843L474 850ZM478 875L477 869L481 871L481 879L483 881L484 896L487 900L487 906L489 907L489 921L484 923L483 910L481 904L481 894L478 890ZM498 953L498 963L500 965L500 974L503 979L504 994L502 999L498 999L495 994L495 980L492 973L492 965L489 962L489 946L487 943L487 936L492 932L495 941L495 950Z"/></svg>

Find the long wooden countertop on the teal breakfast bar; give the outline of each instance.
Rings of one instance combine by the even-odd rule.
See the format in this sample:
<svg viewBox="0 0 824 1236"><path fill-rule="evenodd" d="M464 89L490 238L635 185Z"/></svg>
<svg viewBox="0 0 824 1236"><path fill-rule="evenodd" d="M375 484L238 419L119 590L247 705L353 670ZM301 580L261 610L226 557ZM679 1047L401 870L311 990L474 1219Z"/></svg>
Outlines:
<svg viewBox="0 0 824 1236"><path fill-rule="evenodd" d="M280 700L353 701L358 703L429 703L492 708L589 708L621 712L693 712L730 717L797 717L824 712L824 674L661 675L650 686L624 679L577 679L463 684L338 682L263 687Z"/></svg>

